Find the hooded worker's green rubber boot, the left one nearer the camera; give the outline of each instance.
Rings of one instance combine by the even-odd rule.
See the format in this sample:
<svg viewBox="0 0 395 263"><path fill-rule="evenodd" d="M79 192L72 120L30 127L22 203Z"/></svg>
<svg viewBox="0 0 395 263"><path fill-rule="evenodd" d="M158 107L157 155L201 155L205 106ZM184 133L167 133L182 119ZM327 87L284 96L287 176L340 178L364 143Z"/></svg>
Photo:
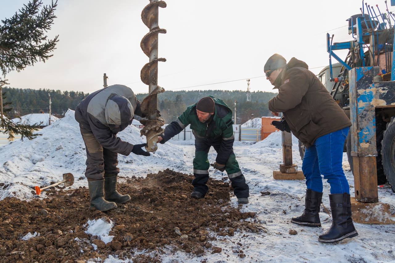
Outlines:
<svg viewBox="0 0 395 263"><path fill-rule="evenodd" d="M88 181L90 195L90 210L100 210L102 212L114 209L116 203L107 202L104 199L104 180Z"/></svg>

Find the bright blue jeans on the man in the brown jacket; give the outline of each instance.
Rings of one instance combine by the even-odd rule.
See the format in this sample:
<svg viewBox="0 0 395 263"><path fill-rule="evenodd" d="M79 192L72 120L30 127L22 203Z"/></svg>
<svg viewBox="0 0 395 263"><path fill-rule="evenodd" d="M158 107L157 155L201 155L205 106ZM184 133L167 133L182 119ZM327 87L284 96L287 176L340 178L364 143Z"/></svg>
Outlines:
<svg viewBox="0 0 395 263"><path fill-rule="evenodd" d="M307 189L322 193L322 177L331 185L331 193L350 193L342 168L344 140L349 127L318 137L303 157L302 171Z"/></svg>

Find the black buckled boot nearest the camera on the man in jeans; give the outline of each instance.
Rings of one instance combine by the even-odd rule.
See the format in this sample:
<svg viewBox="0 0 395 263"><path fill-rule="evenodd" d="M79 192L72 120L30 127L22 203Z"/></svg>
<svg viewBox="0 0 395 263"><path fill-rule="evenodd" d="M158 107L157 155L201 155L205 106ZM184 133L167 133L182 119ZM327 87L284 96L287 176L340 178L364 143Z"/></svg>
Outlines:
<svg viewBox="0 0 395 263"><path fill-rule="evenodd" d="M346 238L356 237L358 232L355 230L351 219L351 201L348 193L329 195L329 202L332 210L332 225L325 234L318 237L318 241L333 243Z"/></svg>

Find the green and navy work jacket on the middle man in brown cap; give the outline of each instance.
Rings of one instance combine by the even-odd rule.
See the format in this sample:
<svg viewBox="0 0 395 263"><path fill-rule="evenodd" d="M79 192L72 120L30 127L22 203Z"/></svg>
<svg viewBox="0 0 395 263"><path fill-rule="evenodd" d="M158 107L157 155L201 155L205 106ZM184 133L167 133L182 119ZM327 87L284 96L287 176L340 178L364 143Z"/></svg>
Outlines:
<svg viewBox="0 0 395 263"><path fill-rule="evenodd" d="M233 150L233 142L235 141L232 111L223 100L213 96L209 97L215 103L214 115L209 120L204 123L200 122L196 113L196 103L190 105L177 118L177 121L171 122L171 124L166 126L164 133L161 135L163 140L160 143L165 143L191 124L192 133L197 140L203 140L209 144L214 141L221 141L220 150L215 161L225 164Z"/></svg>

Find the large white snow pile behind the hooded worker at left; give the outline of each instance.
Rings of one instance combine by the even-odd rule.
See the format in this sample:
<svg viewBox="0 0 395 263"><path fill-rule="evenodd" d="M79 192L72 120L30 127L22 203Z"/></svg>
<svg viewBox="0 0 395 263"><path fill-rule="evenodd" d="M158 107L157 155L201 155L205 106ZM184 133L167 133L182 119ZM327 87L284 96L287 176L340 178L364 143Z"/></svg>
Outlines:
<svg viewBox="0 0 395 263"><path fill-rule="evenodd" d="M0 147L0 200L5 197L29 199L34 196L34 186L60 181L63 173L74 175L75 182L71 188L87 185L83 180L85 144L79 124L74 119L74 111L69 110L64 118L43 128L40 133L42 135L35 139L13 141ZM140 137L140 130L134 126L129 126L118 136L132 144L145 142L145 137ZM120 175L145 176L158 169L179 165L184 158L182 148L176 145L166 143L158 147L156 153L149 157L119 154ZM41 193L43 195L45 192Z"/></svg>

